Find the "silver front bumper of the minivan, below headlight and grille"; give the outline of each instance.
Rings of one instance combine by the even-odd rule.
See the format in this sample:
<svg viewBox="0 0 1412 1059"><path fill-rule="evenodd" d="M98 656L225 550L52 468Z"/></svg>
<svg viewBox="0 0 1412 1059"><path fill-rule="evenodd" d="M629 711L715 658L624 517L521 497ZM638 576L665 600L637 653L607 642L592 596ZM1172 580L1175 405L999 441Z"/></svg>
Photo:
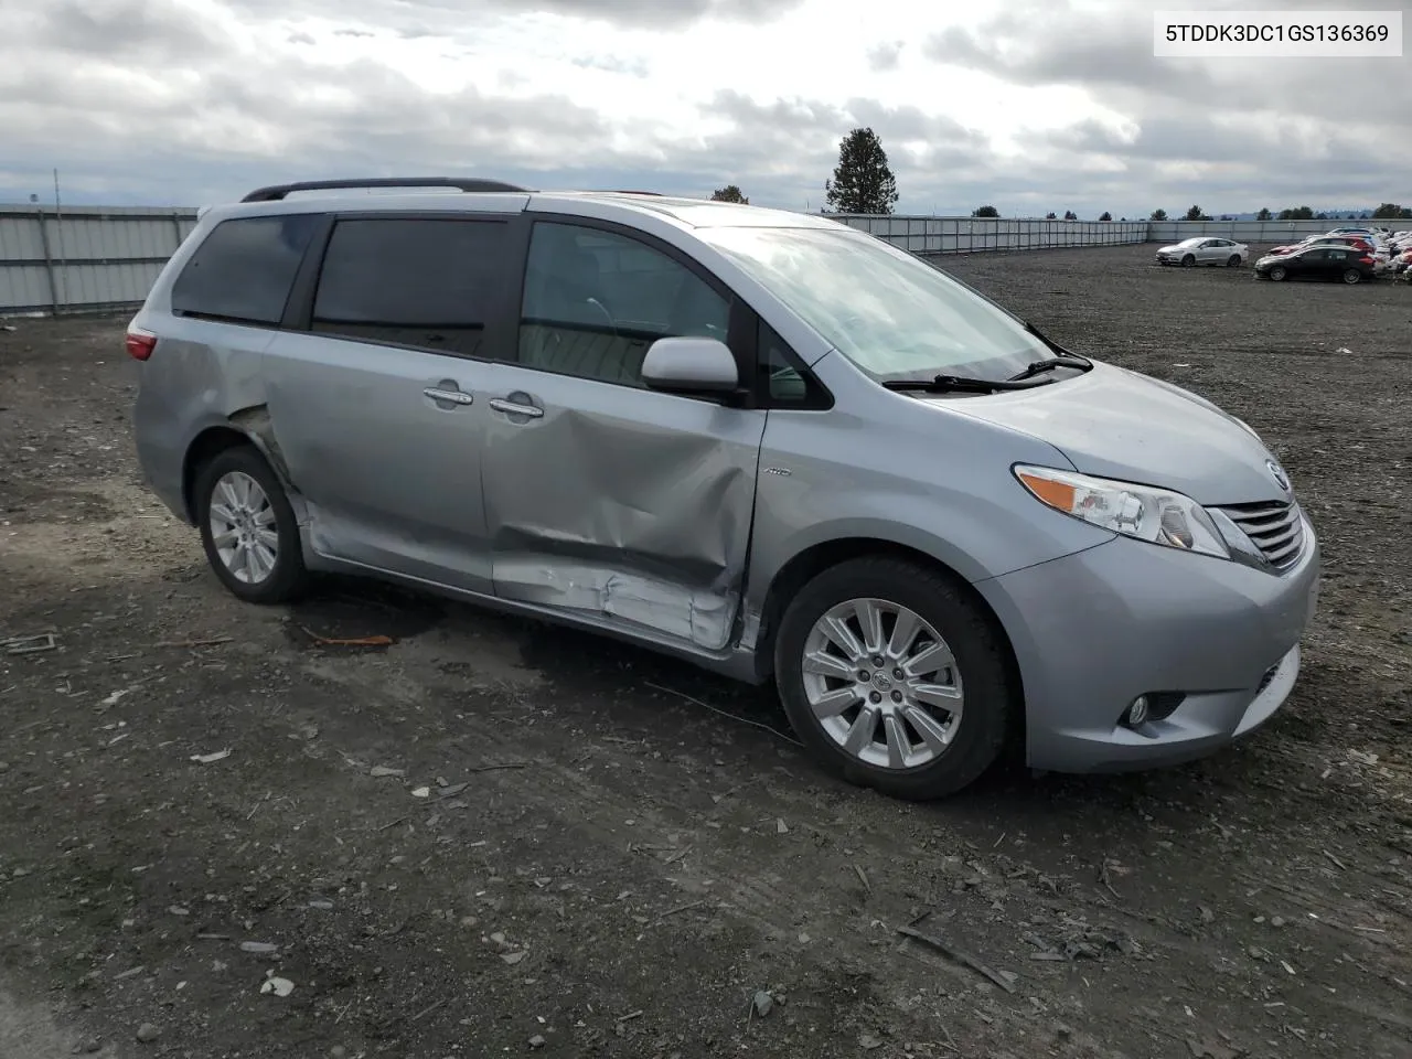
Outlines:
<svg viewBox="0 0 1412 1059"><path fill-rule="evenodd" d="M1221 748L1284 705L1317 606L1319 541L1281 575L1115 538L979 583L1025 688L1029 765L1111 772ZM1166 717L1118 723L1138 695L1180 692Z"/></svg>

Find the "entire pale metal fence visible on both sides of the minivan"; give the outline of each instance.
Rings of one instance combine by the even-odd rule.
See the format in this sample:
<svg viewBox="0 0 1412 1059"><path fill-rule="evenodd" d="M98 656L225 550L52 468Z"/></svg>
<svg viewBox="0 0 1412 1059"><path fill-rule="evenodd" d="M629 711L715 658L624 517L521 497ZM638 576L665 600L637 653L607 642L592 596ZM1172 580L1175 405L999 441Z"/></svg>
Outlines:
<svg viewBox="0 0 1412 1059"><path fill-rule="evenodd" d="M1008 220L834 215L915 254L1175 243L1221 236L1276 244L1340 220ZM128 308L196 225L186 208L0 205L0 313Z"/></svg>

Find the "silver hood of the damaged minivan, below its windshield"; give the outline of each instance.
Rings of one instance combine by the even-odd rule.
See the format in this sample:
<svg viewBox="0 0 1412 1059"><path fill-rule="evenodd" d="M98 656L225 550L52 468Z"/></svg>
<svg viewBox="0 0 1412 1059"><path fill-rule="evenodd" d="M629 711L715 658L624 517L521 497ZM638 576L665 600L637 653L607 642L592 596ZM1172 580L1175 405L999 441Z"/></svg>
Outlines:
<svg viewBox="0 0 1412 1059"><path fill-rule="evenodd" d="M1171 383L1094 361L1083 376L945 408L1021 431L1086 474L1173 489L1204 505L1288 501L1269 450L1234 417Z"/></svg>

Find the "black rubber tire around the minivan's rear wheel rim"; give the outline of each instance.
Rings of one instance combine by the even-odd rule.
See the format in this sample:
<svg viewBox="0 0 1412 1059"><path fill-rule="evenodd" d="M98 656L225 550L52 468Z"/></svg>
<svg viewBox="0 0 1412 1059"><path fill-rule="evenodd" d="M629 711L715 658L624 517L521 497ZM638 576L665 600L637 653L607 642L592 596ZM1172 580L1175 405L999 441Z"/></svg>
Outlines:
<svg viewBox="0 0 1412 1059"><path fill-rule="evenodd" d="M274 569L258 582L240 580L216 548L212 537L210 507L216 484L232 472L249 474L258 483L274 511L274 534L277 537ZM201 544L206 549L206 561L216 572L220 583L240 600L246 603L287 603L298 597L309 582L308 570L304 566L304 552L299 544L299 527L289 498L285 496L284 484L274 473L253 445L237 445L216 453L205 466L196 472L192 489L192 508L196 514L196 525L201 530Z"/></svg>

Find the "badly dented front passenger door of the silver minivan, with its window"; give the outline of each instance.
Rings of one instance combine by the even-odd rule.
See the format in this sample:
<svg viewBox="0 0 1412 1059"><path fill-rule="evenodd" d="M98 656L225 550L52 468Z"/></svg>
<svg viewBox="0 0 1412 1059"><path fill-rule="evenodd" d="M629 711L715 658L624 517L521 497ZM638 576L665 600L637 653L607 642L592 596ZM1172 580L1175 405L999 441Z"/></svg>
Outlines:
<svg viewBox="0 0 1412 1059"><path fill-rule="evenodd" d="M702 651L730 642L765 411L641 378L655 339L727 340L730 321L729 291L665 244L534 223L518 356L487 405L497 594Z"/></svg>

